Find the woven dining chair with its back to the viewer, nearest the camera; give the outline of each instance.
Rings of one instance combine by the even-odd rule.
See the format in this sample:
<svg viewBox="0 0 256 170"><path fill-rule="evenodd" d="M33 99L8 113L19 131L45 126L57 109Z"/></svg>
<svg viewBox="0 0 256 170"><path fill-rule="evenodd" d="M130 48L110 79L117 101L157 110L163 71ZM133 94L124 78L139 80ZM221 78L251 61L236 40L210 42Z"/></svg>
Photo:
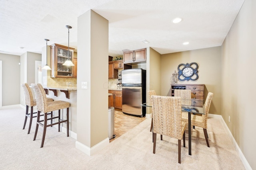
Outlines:
<svg viewBox="0 0 256 170"><path fill-rule="evenodd" d="M181 98L152 96L153 112L153 153L156 153L156 134L178 139L178 163L181 162L181 139L185 147L185 125L181 120Z"/></svg>

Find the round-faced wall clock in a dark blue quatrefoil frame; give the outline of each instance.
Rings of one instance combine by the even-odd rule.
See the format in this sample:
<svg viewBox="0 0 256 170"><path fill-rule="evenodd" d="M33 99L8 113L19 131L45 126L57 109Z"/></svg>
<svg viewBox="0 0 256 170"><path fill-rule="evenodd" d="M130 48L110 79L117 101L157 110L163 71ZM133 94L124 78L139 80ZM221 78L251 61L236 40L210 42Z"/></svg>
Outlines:
<svg viewBox="0 0 256 170"><path fill-rule="evenodd" d="M178 65L178 74L179 80L197 80L198 79L198 64L190 63L190 64L179 64Z"/></svg>

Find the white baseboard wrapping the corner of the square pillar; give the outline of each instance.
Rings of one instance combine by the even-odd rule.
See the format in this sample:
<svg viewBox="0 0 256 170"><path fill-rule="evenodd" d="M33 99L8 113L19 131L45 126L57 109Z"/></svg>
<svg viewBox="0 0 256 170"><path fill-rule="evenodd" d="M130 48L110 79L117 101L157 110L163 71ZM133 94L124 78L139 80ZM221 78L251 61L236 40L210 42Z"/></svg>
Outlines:
<svg viewBox="0 0 256 170"><path fill-rule="evenodd" d="M102 150L104 147L109 145L109 139L106 138L97 145L93 146L92 148L87 147L86 145L76 141L76 148L84 152L85 154L92 156L99 150Z"/></svg>

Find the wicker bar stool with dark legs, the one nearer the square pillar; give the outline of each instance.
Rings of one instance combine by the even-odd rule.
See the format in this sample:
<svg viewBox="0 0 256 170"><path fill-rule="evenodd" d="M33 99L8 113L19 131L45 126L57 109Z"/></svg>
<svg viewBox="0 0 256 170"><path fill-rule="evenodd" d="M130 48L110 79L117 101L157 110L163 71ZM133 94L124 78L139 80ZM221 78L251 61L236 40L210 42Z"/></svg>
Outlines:
<svg viewBox="0 0 256 170"><path fill-rule="evenodd" d="M42 134L42 141L41 141L41 148L44 146L44 139L45 139L45 134L46 134L46 127L57 125L58 124L58 132L60 132L60 124L61 123L66 123L66 129L67 129L67 137L69 136L69 107L70 103L61 101L61 100L56 100L53 102L47 102L46 101L46 94L44 91L44 88L41 84L31 84L35 96L36 96L36 103L37 103L37 122L36 122L36 132L34 135L34 140L36 140L36 135L38 131L38 125L43 127L43 134ZM67 109L66 112L66 120L60 119L60 110L61 109ZM47 112L52 112L58 110L58 116L56 117L51 117L47 118ZM40 112L44 113L44 120L40 120ZM47 124L48 120L52 119L58 119L54 123ZM33 140L33 141L34 141Z"/></svg>

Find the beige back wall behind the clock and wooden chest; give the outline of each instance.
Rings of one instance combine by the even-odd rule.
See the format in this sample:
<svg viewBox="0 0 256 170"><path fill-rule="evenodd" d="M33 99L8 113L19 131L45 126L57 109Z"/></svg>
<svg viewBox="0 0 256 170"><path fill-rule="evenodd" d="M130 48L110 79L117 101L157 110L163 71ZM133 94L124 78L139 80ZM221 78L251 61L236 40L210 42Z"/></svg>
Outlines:
<svg viewBox="0 0 256 170"><path fill-rule="evenodd" d="M209 113L221 114L221 47L212 47L179 53L170 53L161 57L161 95L170 96L170 84L174 70L178 73L181 63L198 64L198 79L178 81L178 84L205 84L204 96L214 93ZM205 100L204 99L204 100Z"/></svg>

